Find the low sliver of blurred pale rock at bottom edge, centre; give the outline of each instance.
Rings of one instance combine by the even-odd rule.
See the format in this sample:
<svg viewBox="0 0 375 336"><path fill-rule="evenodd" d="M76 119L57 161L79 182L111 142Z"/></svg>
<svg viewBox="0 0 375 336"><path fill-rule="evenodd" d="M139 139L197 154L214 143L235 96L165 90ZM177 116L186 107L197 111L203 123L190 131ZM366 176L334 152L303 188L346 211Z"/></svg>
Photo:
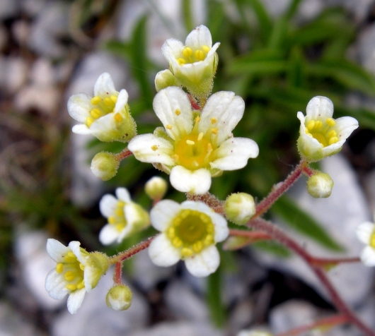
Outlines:
<svg viewBox="0 0 375 336"><path fill-rule="evenodd" d="M202 322L172 322L158 323L146 330L132 332L127 336L224 336L209 323Z"/></svg>

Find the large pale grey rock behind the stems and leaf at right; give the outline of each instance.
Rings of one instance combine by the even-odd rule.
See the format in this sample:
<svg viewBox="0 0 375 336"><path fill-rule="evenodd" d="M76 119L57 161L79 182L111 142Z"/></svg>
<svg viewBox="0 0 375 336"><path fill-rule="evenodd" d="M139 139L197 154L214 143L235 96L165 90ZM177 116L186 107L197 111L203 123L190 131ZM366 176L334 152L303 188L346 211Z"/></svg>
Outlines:
<svg viewBox="0 0 375 336"><path fill-rule="evenodd" d="M316 199L308 195L306 181L296 184L290 195L306 210L333 238L346 248L345 253L333 253L306 236L285 226L285 229L299 244L313 256L322 258L356 257L362 251L363 244L355 234L357 225L371 220L367 201L364 198L357 178L342 155L335 155L321 161L322 171L330 174L335 182L329 198ZM303 178L302 178L303 179ZM258 253L263 262L282 271L291 272L310 284L317 292L330 301L323 286L301 258L277 259L273 256ZM327 273L337 291L350 306L359 305L371 292L374 269L366 268L362 263L337 265Z"/></svg>

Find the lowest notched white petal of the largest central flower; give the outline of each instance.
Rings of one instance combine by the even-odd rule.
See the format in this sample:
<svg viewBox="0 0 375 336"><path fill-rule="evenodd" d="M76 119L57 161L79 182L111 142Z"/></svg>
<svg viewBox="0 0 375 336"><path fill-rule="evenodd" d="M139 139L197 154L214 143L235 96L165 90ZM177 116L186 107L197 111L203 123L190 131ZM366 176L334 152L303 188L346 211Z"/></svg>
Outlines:
<svg viewBox="0 0 375 336"><path fill-rule="evenodd" d="M182 193L203 195L211 186L211 174L207 169L189 170L182 166L175 166L169 177L173 188Z"/></svg>

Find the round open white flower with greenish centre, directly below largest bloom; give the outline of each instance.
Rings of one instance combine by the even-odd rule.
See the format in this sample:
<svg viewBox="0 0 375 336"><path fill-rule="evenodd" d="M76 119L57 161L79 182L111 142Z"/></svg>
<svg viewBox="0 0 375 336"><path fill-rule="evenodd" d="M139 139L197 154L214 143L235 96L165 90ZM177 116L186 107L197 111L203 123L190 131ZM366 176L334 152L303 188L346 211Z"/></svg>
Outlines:
<svg viewBox="0 0 375 336"><path fill-rule="evenodd" d="M219 267L216 243L229 234L226 220L202 202L178 204L161 200L150 212L152 226L161 231L149 246L149 256L158 266L185 260L195 277L206 277Z"/></svg>

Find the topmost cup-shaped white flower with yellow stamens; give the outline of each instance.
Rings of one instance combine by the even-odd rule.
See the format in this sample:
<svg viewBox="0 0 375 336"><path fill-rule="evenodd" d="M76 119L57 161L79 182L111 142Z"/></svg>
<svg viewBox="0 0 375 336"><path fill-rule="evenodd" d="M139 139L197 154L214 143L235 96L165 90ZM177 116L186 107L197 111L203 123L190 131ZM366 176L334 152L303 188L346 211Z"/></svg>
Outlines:
<svg viewBox="0 0 375 336"><path fill-rule="evenodd" d="M212 90L212 80L217 70L217 42L212 47L212 37L204 25L192 30L185 45L175 39L164 42L161 51L178 81L195 97L207 97Z"/></svg>

